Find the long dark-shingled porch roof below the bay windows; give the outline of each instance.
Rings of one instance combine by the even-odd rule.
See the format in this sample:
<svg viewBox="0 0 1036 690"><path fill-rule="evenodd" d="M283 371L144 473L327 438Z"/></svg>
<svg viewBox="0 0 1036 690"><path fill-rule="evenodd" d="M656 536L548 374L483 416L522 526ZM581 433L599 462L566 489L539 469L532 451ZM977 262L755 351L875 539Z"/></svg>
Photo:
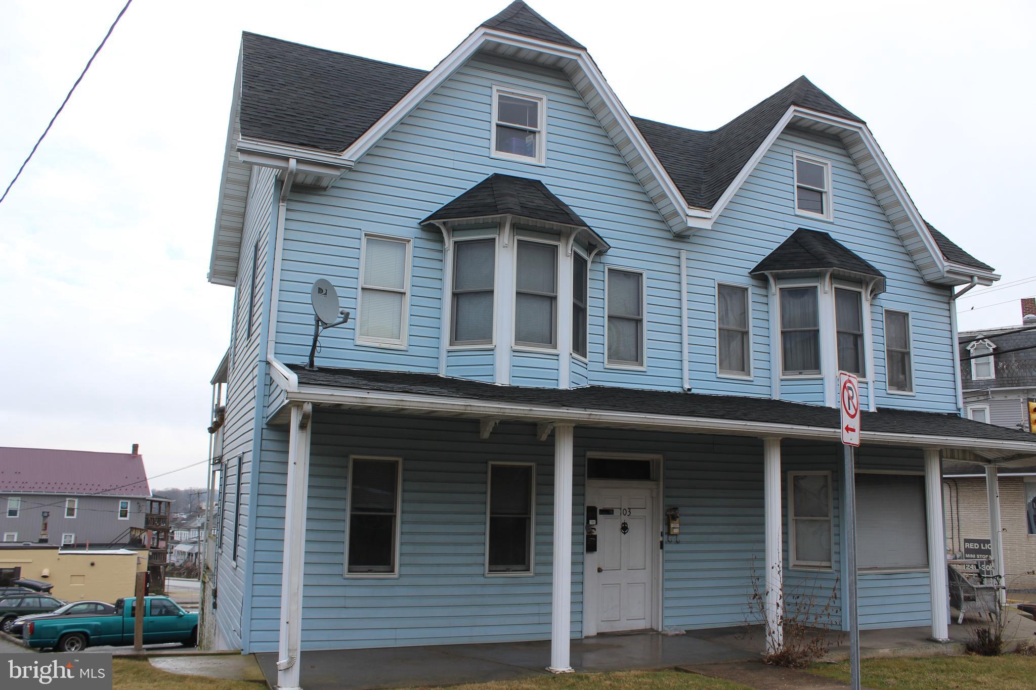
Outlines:
<svg viewBox="0 0 1036 690"><path fill-rule="evenodd" d="M572 389L497 386L433 373L330 367L320 367L310 371L301 364L288 366L298 376L298 383L304 386L328 386L569 410L740 421L766 420L776 424L826 429L837 429L840 421L840 413L834 408L760 397L706 395L612 386ZM864 412L861 425L865 433L882 431L1030 443L1033 452L1036 453L1036 436L1032 433L974 422L952 414L880 409L877 412Z"/></svg>

